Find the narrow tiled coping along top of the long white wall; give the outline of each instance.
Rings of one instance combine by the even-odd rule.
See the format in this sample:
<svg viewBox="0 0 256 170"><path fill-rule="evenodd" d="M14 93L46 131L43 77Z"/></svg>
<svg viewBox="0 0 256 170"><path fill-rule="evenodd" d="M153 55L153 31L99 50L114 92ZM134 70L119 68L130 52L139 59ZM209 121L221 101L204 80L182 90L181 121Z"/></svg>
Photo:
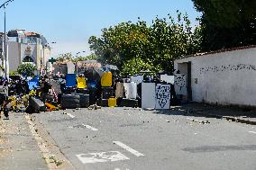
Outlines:
<svg viewBox="0 0 256 170"><path fill-rule="evenodd" d="M236 47L236 48L231 48L231 49L219 49L219 50L215 50L215 51L192 54L192 55L188 55L188 56L181 57L181 58L201 57L201 56L206 56L206 55L210 55L210 54L217 54L217 53L222 53L222 52L227 52L227 51L242 50L242 49L253 49L253 48L256 48L256 45L242 46L242 47ZM181 59L181 58L178 58L178 59Z"/></svg>

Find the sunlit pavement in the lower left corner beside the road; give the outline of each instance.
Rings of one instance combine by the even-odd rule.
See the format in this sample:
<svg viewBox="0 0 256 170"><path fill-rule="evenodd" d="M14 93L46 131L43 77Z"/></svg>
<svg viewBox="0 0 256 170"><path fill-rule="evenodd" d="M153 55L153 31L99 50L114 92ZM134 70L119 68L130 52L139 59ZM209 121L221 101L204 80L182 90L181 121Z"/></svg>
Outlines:
<svg viewBox="0 0 256 170"><path fill-rule="evenodd" d="M48 169L23 113L10 112L0 120L0 169Z"/></svg>

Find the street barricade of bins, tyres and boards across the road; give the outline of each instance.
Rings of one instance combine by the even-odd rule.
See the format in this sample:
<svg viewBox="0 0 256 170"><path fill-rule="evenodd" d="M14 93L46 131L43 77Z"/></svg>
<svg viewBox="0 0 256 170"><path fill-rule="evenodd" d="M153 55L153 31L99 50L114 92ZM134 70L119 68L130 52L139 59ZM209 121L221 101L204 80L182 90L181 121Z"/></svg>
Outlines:
<svg viewBox="0 0 256 170"><path fill-rule="evenodd" d="M101 107L169 109L171 104L178 103L178 98L184 97L176 94L174 76L162 77L163 80L161 76L146 74L122 77L116 70L92 67L83 74L67 74L57 79L13 77L9 81L0 81L0 88L2 86L1 93L8 96L3 106L14 112L97 110Z"/></svg>

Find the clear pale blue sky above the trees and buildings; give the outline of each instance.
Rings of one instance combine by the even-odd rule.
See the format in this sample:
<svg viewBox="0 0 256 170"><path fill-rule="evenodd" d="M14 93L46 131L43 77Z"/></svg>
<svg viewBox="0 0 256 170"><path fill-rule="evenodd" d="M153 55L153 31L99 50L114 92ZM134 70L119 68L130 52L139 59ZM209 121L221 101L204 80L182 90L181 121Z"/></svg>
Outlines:
<svg viewBox="0 0 256 170"><path fill-rule="evenodd" d="M5 0L0 0L3 4ZM41 33L50 44L51 56L86 51L90 36L101 35L103 28L119 22L151 23L159 16L187 13L196 25L200 16L191 0L14 0L6 6L6 30L24 29ZM0 9L0 31L4 31L4 9Z"/></svg>

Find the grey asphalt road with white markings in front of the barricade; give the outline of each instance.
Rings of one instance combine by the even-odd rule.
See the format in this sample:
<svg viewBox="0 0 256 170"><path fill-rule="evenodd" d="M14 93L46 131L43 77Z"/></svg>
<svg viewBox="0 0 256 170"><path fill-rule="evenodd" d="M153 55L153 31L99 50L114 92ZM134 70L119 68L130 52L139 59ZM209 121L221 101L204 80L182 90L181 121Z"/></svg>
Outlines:
<svg viewBox="0 0 256 170"><path fill-rule="evenodd" d="M79 170L256 170L256 127L133 108L35 114Z"/></svg>

